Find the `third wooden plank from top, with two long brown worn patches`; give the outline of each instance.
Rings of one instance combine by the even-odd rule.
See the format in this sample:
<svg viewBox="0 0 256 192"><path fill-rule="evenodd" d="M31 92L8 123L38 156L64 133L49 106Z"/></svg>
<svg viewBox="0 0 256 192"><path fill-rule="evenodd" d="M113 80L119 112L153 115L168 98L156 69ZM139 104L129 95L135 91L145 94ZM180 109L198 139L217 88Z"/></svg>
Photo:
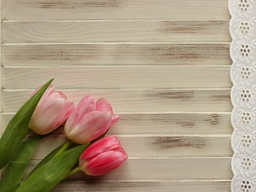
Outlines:
<svg viewBox="0 0 256 192"><path fill-rule="evenodd" d="M230 43L3 44L2 65L230 66L229 49Z"/></svg>

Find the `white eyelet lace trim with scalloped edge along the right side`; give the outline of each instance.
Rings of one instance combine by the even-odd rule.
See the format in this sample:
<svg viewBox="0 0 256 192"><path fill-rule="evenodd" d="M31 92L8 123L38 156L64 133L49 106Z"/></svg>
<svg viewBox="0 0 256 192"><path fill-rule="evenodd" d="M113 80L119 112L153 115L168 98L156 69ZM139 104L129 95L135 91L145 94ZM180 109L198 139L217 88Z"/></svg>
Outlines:
<svg viewBox="0 0 256 192"><path fill-rule="evenodd" d="M232 192L256 191L256 0L230 0Z"/></svg>

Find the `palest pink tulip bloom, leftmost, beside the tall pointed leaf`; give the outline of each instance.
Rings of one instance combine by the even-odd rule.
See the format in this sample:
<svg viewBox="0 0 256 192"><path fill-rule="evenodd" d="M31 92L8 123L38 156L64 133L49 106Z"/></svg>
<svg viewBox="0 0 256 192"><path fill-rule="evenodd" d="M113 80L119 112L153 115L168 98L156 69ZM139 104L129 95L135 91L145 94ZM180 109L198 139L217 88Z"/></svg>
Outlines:
<svg viewBox="0 0 256 192"><path fill-rule="evenodd" d="M37 134L49 134L61 126L73 110L74 103L68 101L65 94L56 91L54 86L50 85L38 102L29 127Z"/></svg>

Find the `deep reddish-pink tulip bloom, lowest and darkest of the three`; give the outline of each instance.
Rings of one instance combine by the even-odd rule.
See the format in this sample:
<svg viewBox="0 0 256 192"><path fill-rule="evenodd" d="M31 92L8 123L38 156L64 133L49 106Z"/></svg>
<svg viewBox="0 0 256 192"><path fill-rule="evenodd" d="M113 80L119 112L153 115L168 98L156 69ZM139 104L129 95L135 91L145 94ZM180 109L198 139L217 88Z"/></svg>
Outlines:
<svg viewBox="0 0 256 192"><path fill-rule="evenodd" d="M126 159L127 154L118 139L108 136L94 142L82 152L79 168L86 174L98 176L118 168Z"/></svg>

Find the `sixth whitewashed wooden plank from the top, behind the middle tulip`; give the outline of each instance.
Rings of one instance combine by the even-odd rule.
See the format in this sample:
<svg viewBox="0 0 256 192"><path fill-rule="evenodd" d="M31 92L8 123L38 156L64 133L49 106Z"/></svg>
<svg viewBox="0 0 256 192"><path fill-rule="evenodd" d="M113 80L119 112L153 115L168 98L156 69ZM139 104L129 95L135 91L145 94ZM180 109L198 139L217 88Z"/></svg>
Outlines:
<svg viewBox="0 0 256 192"><path fill-rule="evenodd" d="M120 114L110 134L231 134L230 113ZM13 114L2 114L4 130Z"/></svg>

